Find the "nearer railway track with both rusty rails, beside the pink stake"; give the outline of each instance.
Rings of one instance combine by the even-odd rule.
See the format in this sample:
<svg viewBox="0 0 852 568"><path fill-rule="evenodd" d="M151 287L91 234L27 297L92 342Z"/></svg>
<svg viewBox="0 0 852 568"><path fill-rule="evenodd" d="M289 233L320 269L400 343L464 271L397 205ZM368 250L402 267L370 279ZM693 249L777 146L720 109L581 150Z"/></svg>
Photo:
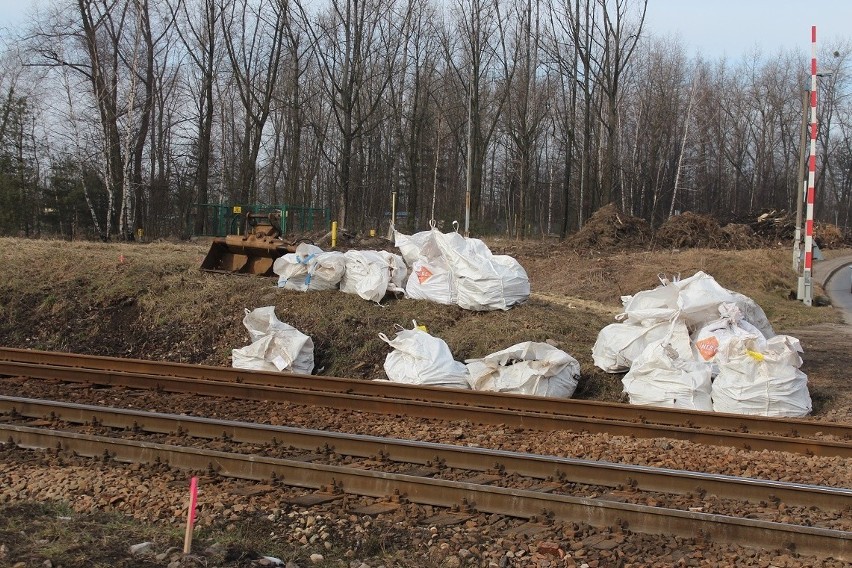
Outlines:
<svg viewBox="0 0 852 568"><path fill-rule="evenodd" d="M622 525L635 532L674 534L757 546L791 549L802 554L852 559L852 532L771 522L754 518L678 510L560 493L557 486L594 483L666 492L715 492L730 499L778 500L788 504L849 510L852 490L765 482L731 476L678 472L657 468L618 466L584 460L464 448L446 444L375 438L371 436L214 420L91 405L59 403L17 397L0 398L0 438L25 448L55 449L92 458L121 462L165 462L190 470L215 470L220 475L253 480L277 479L287 485L321 491L326 499L344 493L404 499L440 507L456 507L527 519L582 521L593 526ZM26 424L39 419L38 427ZM113 435L56 429L63 424L111 429ZM168 433L181 438L226 439L237 443L271 444L322 453L356 456L366 461L342 466L319 463L317 457L282 459L199 448L180 444L127 439L127 433ZM7 442L8 443L8 442ZM409 464L412 473L380 468L382 463ZM436 477L438 469L472 470L472 480ZM411 466L415 467L411 467ZM424 467L426 466L426 467ZM414 473L417 472L417 473ZM482 472L497 472L483 475ZM498 478L529 476L544 483L525 488L495 486ZM517 484L513 478L513 483Z"/></svg>

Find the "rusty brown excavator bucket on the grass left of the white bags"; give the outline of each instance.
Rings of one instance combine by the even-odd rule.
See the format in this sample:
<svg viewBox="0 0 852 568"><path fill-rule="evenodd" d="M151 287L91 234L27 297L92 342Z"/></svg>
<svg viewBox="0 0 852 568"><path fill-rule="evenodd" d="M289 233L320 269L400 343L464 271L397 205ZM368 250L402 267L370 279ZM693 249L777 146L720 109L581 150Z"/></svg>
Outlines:
<svg viewBox="0 0 852 568"><path fill-rule="evenodd" d="M275 259L296 252L297 244L281 238L282 212L242 214L236 235L216 237L201 263L201 270L225 274L274 276Z"/></svg>

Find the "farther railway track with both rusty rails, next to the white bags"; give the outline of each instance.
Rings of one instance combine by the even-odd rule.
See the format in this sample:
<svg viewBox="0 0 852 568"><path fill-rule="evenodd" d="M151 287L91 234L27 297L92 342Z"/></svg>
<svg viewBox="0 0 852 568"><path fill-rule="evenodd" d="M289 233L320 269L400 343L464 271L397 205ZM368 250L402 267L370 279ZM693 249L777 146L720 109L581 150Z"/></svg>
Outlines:
<svg viewBox="0 0 852 568"><path fill-rule="evenodd" d="M852 425L0 349L0 375L290 402L536 430L673 438L747 450L852 457Z"/></svg>

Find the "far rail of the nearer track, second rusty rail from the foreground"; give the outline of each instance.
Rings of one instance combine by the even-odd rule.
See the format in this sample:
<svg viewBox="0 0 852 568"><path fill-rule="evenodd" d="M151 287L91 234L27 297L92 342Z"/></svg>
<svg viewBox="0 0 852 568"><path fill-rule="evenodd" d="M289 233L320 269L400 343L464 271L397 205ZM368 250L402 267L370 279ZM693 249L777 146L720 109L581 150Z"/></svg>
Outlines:
<svg viewBox="0 0 852 568"><path fill-rule="evenodd" d="M0 414L28 418L50 418L75 424L98 424L110 428L169 434L181 432L205 439L226 438L235 442L281 444L304 450L329 448L340 455L382 456L413 463L439 463L446 467L558 479L561 483L583 483L607 487L635 487L670 494L708 493L723 499L750 502L775 501L787 505L817 506L822 510L852 510L852 489L760 480L648 466L528 454L487 448L471 448L398 438L380 438L324 430L292 428L163 414L142 410L110 408L70 402L0 396Z"/></svg>

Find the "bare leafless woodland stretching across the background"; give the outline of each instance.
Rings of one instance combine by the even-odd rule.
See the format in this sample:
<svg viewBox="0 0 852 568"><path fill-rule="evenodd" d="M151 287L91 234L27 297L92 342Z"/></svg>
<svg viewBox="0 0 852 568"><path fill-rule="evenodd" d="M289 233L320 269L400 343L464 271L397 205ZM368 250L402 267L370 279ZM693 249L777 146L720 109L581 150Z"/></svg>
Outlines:
<svg viewBox="0 0 852 568"><path fill-rule="evenodd" d="M187 238L198 204L566 236L795 212L809 45L737 59L642 0L53 0L0 35L0 235ZM759 25L755 22L755 25ZM807 39L809 25L803 22ZM816 218L850 229L848 40L819 46Z"/></svg>

